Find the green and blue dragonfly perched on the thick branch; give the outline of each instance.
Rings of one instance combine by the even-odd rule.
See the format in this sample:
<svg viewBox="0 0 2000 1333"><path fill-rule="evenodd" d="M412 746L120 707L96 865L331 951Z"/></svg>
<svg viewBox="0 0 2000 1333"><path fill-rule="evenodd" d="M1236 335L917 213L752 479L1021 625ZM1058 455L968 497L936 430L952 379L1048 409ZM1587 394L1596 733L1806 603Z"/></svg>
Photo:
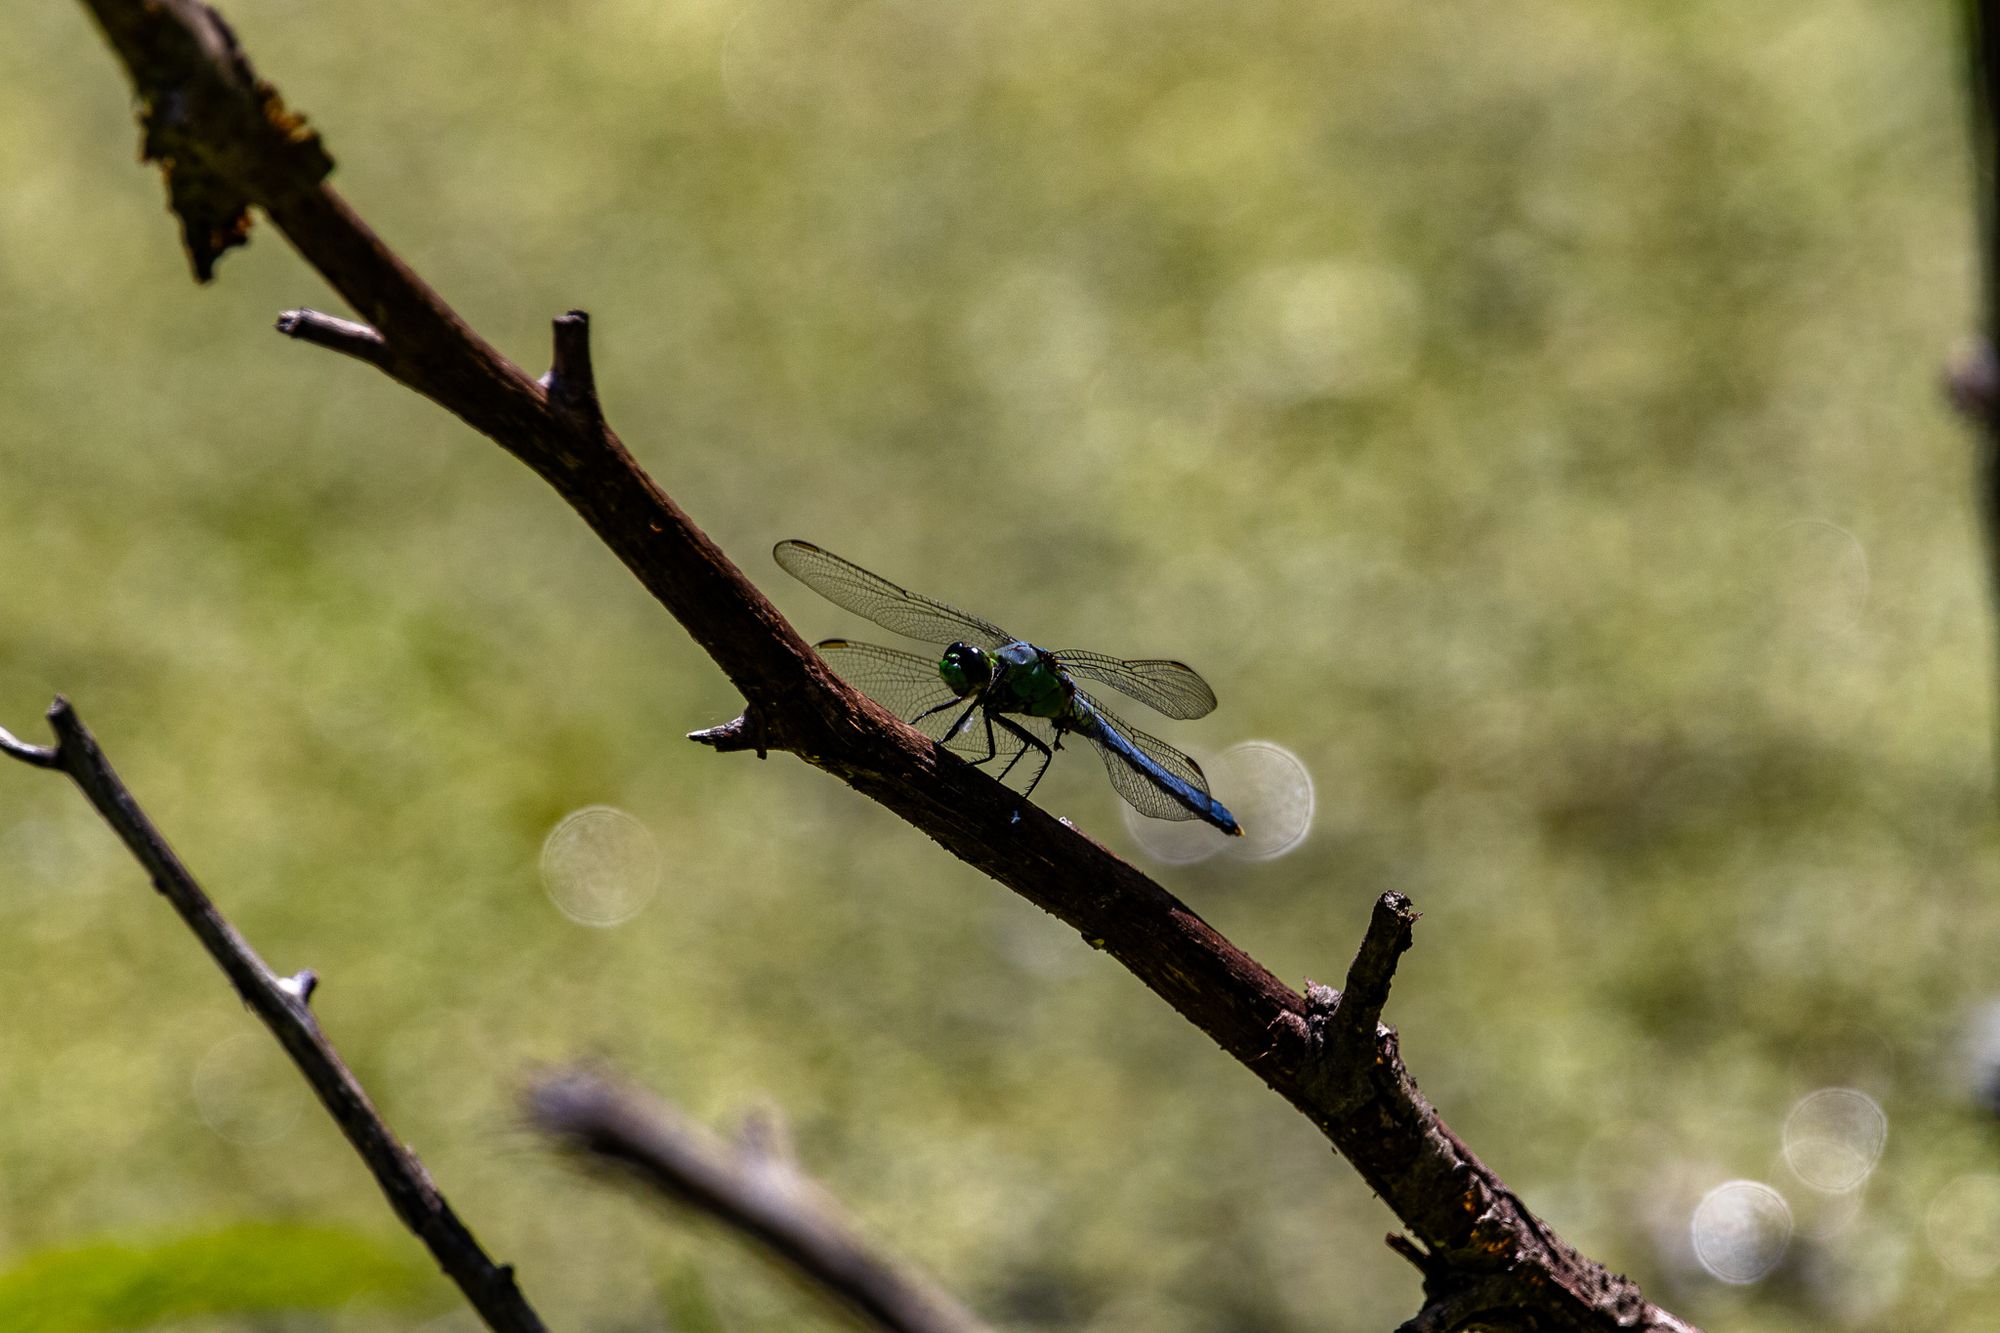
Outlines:
<svg viewBox="0 0 2000 1333"><path fill-rule="evenodd" d="M1028 797L1062 739L1076 735L1096 747L1112 787L1140 815L1200 819L1242 837L1236 817L1208 795L1198 763L1122 723L1078 687L1078 681L1108 685L1172 719L1206 717L1216 707L1216 693L1186 662L1038 648L812 542L778 542L772 556L842 610L944 648L930 658L852 638L812 644L842 679L960 759L974 767L1000 763L998 779L1006 783L1022 759L1034 755L1022 791Z"/></svg>

